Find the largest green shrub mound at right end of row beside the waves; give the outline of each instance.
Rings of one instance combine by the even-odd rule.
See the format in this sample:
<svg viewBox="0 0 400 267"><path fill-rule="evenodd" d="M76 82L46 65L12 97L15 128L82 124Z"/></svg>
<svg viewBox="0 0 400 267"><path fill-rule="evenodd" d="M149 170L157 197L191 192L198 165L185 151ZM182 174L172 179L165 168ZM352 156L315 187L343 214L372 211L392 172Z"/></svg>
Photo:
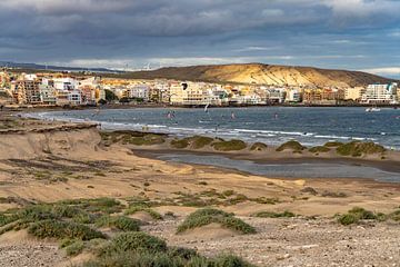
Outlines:
<svg viewBox="0 0 400 267"><path fill-rule="evenodd" d="M364 155L383 154L386 148L374 142L352 141L337 148L340 156L361 157Z"/></svg>

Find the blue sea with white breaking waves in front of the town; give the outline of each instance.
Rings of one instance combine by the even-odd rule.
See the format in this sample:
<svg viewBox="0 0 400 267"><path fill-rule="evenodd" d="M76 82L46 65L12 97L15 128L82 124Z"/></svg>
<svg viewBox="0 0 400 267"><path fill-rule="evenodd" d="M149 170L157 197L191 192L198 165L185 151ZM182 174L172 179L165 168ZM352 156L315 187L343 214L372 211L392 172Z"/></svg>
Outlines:
<svg viewBox="0 0 400 267"><path fill-rule="evenodd" d="M41 119L96 121L108 130L146 130L177 136L203 135L279 145L373 141L400 150L400 109L343 107L134 108L31 113Z"/></svg>

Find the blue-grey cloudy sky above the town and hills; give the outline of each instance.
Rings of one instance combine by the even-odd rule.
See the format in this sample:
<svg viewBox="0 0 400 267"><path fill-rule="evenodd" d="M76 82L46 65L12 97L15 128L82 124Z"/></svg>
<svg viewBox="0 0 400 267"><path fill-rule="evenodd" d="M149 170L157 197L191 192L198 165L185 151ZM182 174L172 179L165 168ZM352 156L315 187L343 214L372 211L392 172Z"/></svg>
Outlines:
<svg viewBox="0 0 400 267"><path fill-rule="evenodd" d="M400 78L400 0L0 0L0 61L262 62Z"/></svg>

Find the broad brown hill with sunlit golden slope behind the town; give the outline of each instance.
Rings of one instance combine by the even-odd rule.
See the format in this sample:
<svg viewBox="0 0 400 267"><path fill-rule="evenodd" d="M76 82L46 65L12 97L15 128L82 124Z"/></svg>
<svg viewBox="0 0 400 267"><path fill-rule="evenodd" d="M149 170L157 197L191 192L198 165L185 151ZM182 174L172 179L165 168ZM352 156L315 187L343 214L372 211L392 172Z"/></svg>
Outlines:
<svg viewBox="0 0 400 267"><path fill-rule="evenodd" d="M273 66L262 63L169 67L151 71L126 72L123 78L177 79L209 82L238 82L257 85L289 85L317 87L354 87L376 82L391 82L371 73L311 67Z"/></svg>

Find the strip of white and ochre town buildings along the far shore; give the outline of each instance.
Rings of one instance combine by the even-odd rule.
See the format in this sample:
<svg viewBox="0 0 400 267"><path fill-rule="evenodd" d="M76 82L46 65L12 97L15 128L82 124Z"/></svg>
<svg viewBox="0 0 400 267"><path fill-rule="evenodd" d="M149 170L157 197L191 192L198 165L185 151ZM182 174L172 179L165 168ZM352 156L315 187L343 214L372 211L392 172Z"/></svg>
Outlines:
<svg viewBox="0 0 400 267"><path fill-rule="evenodd" d="M158 103L171 106L398 105L400 87L242 85L168 79L120 79L100 73L0 71L2 106L53 107Z"/></svg>

